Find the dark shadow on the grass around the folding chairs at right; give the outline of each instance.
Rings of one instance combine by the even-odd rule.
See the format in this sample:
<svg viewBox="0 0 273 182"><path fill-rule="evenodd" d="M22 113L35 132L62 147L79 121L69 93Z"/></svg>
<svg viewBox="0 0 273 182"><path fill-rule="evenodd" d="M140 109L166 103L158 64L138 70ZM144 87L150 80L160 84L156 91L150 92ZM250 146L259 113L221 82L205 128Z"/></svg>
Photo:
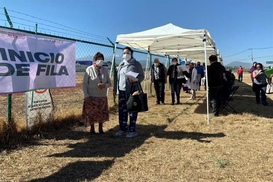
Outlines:
<svg viewBox="0 0 273 182"><path fill-rule="evenodd" d="M273 100L267 96L268 106L263 106L262 104L256 104L255 93L252 91L252 86L245 82L235 82L234 86L239 86L239 89L233 96L233 101L229 102L229 105L233 107L238 114L240 113L253 113L258 116L273 118L273 113L269 110L272 110ZM209 105L210 106L210 105ZM227 109L221 113L223 115L230 114L233 110L227 106ZM212 108L209 108L209 112L212 111ZM195 113L206 114L207 106L206 106L206 98L204 97L204 101L202 103L198 103L198 107L194 111Z"/></svg>

